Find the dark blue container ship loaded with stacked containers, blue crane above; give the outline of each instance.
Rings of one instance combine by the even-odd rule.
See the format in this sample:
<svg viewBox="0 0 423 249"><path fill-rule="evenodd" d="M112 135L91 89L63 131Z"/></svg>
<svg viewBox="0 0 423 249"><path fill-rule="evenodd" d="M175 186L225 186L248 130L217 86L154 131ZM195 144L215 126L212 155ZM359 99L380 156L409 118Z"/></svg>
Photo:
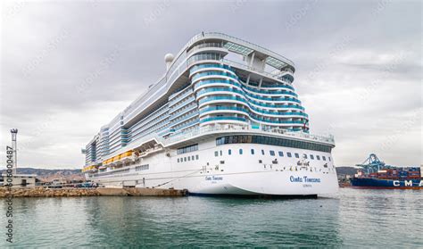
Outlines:
<svg viewBox="0 0 423 249"><path fill-rule="evenodd" d="M423 166L394 167L381 162L376 154L361 164L357 174L350 178L352 187L423 189Z"/></svg>

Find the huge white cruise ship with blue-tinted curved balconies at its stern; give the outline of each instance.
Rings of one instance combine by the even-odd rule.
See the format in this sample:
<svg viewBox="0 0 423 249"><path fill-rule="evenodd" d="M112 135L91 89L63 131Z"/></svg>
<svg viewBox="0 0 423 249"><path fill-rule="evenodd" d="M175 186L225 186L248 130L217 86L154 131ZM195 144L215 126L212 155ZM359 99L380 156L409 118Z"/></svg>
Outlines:
<svg viewBox="0 0 423 249"><path fill-rule="evenodd" d="M215 32L164 61L162 77L82 149L88 180L194 195L337 191L334 138L310 134L294 62Z"/></svg>

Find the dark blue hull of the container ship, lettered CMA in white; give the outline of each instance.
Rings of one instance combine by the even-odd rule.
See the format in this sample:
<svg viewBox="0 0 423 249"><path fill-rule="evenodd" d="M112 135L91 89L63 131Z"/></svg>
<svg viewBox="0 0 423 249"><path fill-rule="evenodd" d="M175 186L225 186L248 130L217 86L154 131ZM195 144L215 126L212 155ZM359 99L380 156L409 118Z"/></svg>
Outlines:
<svg viewBox="0 0 423 249"><path fill-rule="evenodd" d="M423 188L423 179L351 178L352 187Z"/></svg>

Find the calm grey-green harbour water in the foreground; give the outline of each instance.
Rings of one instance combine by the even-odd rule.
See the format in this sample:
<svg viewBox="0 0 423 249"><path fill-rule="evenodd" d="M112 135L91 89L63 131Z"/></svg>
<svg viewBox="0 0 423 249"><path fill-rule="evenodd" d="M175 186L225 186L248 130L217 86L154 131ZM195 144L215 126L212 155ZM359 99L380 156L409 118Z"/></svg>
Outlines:
<svg viewBox="0 0 423 249"><path fill-rule="evenodd" d="M0 203L0 248L5 203ZM423 191L340 189L319 199L15 198L17 247L320 246L423 248Z"/></svg>

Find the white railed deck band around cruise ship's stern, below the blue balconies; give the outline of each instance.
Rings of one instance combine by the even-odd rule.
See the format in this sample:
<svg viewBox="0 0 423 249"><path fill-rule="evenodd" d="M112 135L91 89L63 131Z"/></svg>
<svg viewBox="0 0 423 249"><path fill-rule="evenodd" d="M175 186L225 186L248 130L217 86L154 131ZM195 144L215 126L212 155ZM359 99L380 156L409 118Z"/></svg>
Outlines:
<svg viewBox="0 0 423 249"><path fill-rule="evenodd" d="M243 125L215 125L215 126L208 126L208 127L196 127L195 129L189 129L187 131L183 131L181 133L172 135L166 139L164 139L165 143L172 144L180 140L184 140L190 137L196 137L203 134L215 132L215 131L239 131L239 130L245 130L245 131L255 131L260 132L264 134L280 134L285 135L288 137L298 137L298 138L306 138L311 140L316 140L317 142L323 142L323 143L330 143L334 144L335 139L332 135L328 136L320 136L320 135L313 135L309 133L304 132L292 132L287 131L286 129L260 129L260 128L252 128L250 126L243 126Z"/></svg>

